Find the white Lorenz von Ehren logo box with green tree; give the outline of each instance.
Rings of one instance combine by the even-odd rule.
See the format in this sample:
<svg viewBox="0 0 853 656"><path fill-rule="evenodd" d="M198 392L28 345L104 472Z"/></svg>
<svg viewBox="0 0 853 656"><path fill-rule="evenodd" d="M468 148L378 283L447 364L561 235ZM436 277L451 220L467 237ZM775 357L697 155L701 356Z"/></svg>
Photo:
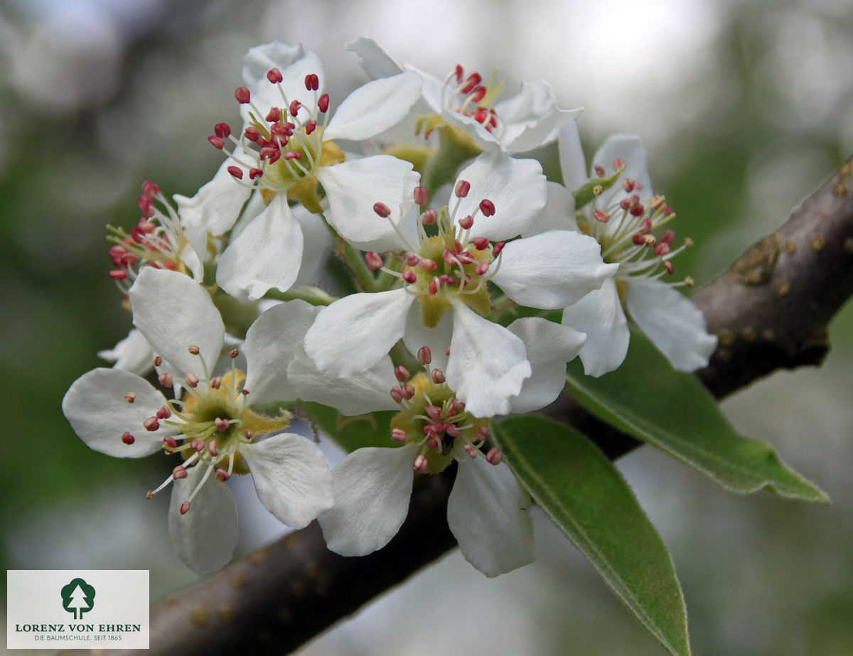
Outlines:
<svg viewBox="0 0 853 656"><path fill-rule="evenodd" d="M6 574L7 648L148 649L148 570Z"/></svg>

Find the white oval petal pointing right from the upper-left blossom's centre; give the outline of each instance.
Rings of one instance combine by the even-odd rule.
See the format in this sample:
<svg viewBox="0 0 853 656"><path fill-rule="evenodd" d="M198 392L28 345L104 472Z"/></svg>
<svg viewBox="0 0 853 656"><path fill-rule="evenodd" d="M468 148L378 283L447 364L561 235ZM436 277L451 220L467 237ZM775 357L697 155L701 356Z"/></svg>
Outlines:
<svg viewBox="0 0 853 656"><path fill-rule="evenodd" d="M361 141L387 130L421 97L421 84L410 71L364 84L340 103L323 138Z"/></svg>

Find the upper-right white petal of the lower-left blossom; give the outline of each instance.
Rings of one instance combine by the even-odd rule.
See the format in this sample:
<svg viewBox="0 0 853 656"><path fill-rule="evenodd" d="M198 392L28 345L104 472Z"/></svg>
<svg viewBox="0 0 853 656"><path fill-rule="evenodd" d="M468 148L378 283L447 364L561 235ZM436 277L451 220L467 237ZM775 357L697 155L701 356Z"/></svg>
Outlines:
<svg viewBox="0 0 853 656"><path fill-rule="evenodd" d="M299 392L287 378L287 365L298 351L320 308L304 300L281 303L258 316L246 333L246 389L252 403L293 401Z"/></svg>

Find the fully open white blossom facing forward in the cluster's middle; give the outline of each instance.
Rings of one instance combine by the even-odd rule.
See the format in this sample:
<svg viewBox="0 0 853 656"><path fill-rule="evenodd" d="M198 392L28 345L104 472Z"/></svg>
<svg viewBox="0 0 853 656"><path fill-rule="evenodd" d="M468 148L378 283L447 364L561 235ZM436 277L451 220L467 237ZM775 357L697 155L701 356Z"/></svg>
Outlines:
<svg viewBox="0 0 853 656"><path fill-rule="evenodd" d="M400 286L355 293L320 311L305 335L317 369L333 377L357 374L403 339L410 349L429 345L447 357L448 384L475 415L508 412L510 398L534 372L523 341L486 318L487 283L519 304L557 309L598 289L617 269L601 261L595 240L571 230L498 241L519 235L542 210L541 171L534 160L499 150L482 154L461 171L438 212L419 212L427 192L416 186L415 173L397 189L352 189L346 221L330 223L368 251L369 267L396 276ZM428 235L425 226L438 234Z"/></svg>

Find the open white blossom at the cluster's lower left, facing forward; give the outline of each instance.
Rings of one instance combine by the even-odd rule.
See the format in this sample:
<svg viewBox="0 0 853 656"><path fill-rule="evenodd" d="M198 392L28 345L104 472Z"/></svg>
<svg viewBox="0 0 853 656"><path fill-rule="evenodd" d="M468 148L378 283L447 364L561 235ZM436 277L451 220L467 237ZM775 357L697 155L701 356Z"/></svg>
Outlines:
<svg viewBox="0 0 853 656"><path fill-rule="evenodd" d="M62 400L74 432L90 448L117 457L163 449L182 460L148 497L171 485L169 530L177 554L194 572L223 566L237 540L235 502L223 481L252 473L270 513L301 528L332 505L331 474L310 440L282 432L290 415L259 414L250 403L274 400L269 359L277 334L249 328L247 373L212 375L225 336L203 287L177 272L146 267L130 289L134 323L154 351L160 385L129 372L93 369ZM262 357L258 357L258 354ZM249 396L249 391L252 396ZM252 400L250 400L252 399ZM269 437L264 437L269 436Z"/></svg>

